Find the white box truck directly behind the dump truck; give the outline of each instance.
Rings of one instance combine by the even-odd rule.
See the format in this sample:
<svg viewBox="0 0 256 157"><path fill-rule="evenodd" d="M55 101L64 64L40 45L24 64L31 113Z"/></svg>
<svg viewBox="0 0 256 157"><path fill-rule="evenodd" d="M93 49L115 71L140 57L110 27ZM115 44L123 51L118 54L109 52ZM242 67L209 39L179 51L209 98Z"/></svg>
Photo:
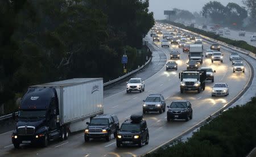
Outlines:
<svg viewBox="0 0 256 157"><path fill-rule="evenodd" d="M189 45L189 61L196 61L203 63L203 45L202 44L192 44Z"/></svg>

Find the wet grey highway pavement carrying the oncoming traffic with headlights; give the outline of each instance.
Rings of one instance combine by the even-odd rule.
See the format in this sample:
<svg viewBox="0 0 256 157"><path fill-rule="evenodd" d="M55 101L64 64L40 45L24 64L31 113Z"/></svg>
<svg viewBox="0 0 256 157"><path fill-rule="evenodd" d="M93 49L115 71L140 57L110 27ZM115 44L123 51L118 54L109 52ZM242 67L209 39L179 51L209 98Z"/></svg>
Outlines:
<svg viewBox="0 0 256 157"><path fill-rule="evenodd" d="M178 49L177 45L172 45L170 48L162 48L160 42L153 43L149 35L146 36L146 40L154 47L153 54L156 58L159 58L159 56L161 56L160 54L166 54L166 57L169 58L171 50ZM204 43L204 49L209 49L209 46L209 44ZM204 63L201 66L213 67L213 70L216 70L214 74L215 83L228 83L230 94L225 97L212 97L210 87L213 86L213 83L210 81L207 82L205 91L202 91L200 94L197 94L196 91L180 94L180 80L178 75L179 71L186 69L188 54L183 53L181 49L179 49L179 52L181 53L181 58L176 61L178 63L177 71L166 71L165 66L160 64L162 68L159 68L157 73L152 74L151 77L145 80L146 90L142 93L133 92L126 94L126 87L119 86L118 90L115 90L116 92L109 92L108 95L104 96L104 113L117 114L120 124L122 124L131 114L142 113L142 100L146 99L149 94L160 93L166 98L167 105L170 105L173 100L187 99L191 101L193 108L192 120L188 122L167 122L166 112L162 114L147 113L144 119L147 120L150 142L148 145L141 148L137 146L117 148L113 135L110 142L105 142L105 140L102 139L91 140L85 143L84 133L80 132L71 135L67 141L51 142L46 148L22 145L19 150L15 150L11 144L11 131L9 131L0 134L0 156L139 156L169 141L176 135L183 133L183 131L191 128L213 112L222 108L228 101L236 97L249 81L250 68L246 65L245 73L233 73L232 65L229 61L230 52L223 50L223 63L212 63L210 58L204 58ZM164 60L164 57L162 58ZM155 58L153 58L153 61L154 60ZM143 75L143 73L140 75ZM110 88L109 90L113 89Z"/></svg>

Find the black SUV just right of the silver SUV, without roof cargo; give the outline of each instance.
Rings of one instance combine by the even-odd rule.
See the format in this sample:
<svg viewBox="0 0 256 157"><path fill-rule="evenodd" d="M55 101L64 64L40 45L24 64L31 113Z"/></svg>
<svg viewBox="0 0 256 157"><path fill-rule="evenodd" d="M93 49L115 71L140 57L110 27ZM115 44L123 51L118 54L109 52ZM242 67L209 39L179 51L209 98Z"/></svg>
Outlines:
<svg viewBox="0 0 256 157"><path fill-rule="evenodd" d="M172 101L170 106L167 106L167 121L175 119L185 119L188 121L193 118L192 105L188 100Z"/></svg>

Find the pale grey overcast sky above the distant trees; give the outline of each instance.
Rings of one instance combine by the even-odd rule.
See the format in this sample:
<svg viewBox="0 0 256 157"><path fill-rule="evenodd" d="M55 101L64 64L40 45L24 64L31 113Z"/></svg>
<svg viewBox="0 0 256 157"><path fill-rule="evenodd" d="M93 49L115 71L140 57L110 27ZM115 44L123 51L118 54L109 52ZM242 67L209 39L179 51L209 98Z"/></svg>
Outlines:
<svg viewBox="0 0 256 157"><path fill-rule="evenodd" d="M149 9L150 11L154 12L154 18L164 19L164 10L172 10L177 8L192 12L199 12L207 2L210 2L210 0L149 0L149 2ZM221 2L224 6L226 6L229 2L234 2L243 6L242 0L218 0L218 2Z"/></svg>

